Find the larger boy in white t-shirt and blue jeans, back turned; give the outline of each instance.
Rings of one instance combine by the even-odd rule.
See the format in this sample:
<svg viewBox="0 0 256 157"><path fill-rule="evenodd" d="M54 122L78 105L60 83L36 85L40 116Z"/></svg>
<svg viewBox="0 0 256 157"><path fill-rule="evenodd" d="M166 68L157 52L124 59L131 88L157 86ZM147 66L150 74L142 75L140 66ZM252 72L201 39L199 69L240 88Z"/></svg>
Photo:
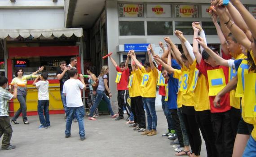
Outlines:
<svg viewBox="0 0 256 157"><path fill-rule="evenodd" d="M84 77L79 75L75 68L68 70L68 79L63 85L63 94L66 95L66 130L65 137L71 136L71 124L73 114L76 114L76 118L79 126L80 140L85 140L84 132L84 104L81 97L81 89L85 89Z"/></svg>

